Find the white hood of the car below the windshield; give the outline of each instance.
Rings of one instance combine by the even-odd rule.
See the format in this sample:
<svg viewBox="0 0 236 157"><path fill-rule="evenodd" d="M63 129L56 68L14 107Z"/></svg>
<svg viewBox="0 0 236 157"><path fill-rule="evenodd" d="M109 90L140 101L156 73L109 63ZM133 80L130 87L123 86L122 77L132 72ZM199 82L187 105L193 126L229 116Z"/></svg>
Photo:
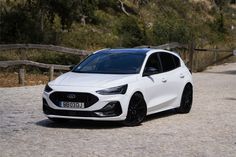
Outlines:
<svg viewBox="0 0 236 157"><path fill-rule="evenodd" d="M65 73L54 81L53 86L79 86L79 87L114 87L128 84L137 79L138 74L88 74L88 73Z"/></svg>

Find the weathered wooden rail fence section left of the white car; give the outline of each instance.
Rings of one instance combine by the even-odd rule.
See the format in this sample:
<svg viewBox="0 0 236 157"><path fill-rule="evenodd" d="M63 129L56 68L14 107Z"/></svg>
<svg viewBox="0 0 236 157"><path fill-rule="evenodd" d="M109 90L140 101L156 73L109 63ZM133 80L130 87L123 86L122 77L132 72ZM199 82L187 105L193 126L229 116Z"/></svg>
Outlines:
<svg viewBox="0 0 236 157"><path fill-rule="evenodd" d="M25 66L35 66L39 68L49 69L49 81L53 80L54 70L65 70L68 71L70 69L70 65L56 65L56 64L46 64L39 63L27 60L26 58L26 50L28 49L42 49L48 51L55 51L59 53L65 54L73 54L78 56L87 56L90 54L89 51L79 50L73 48L67 48L62 46L55 45L42 45L42 44L1 44L0 45L0 53L9 52L7 50L19 49L21 52L21 60L10 60L10 61L0 61L0 67L6 68L10 66L21 65L19 70L19 84L25 85Z"/></svg>

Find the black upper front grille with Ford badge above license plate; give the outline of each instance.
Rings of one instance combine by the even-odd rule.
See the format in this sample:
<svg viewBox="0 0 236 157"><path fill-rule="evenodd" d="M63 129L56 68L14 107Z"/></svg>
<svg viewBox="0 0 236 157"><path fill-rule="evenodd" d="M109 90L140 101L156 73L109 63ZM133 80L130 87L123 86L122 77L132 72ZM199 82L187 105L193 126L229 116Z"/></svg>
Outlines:
<svg viewBox="0 0 236 157"><path fill-rule="evenodd" d="M90 93L78 92L54 92L49 96L50 100L58 107L61 101L68 102L83 102L85 108L92 106L98 102L98 97Z"/></svg>

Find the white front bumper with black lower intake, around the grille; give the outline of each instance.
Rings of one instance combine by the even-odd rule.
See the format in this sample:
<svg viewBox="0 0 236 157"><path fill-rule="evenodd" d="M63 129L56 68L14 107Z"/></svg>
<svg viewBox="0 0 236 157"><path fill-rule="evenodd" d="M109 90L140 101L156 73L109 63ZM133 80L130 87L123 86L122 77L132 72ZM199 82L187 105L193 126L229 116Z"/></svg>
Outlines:
<svg viewBox="0 0 236 157"><path fill-rule="evenodd" d="M50 99L50 94L43 94L43 112L50 118L86 119L121 121L126 118L128 99L124 95L100 96L99 101L84 109L62 108L54 104ZM97 95L98 96L98 95ZM115 107L108 109L110 103L115 103Z"/></svg>

